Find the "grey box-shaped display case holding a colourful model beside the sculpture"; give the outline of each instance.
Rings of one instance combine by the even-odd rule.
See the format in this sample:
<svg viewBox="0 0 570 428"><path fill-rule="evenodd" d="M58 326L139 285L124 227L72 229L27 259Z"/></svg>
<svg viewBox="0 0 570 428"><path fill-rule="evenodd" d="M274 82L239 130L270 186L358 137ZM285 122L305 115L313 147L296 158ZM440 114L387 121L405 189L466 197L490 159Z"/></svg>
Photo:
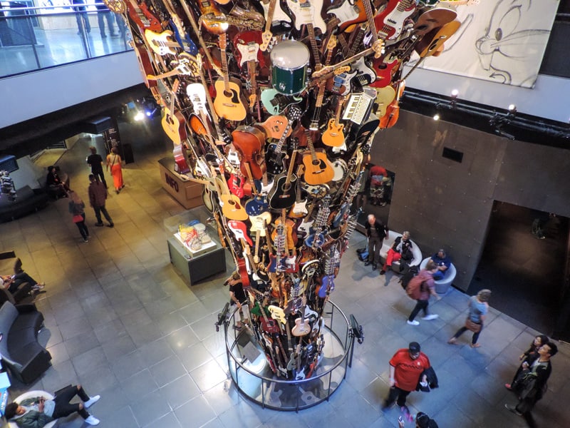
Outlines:
<svg viewBox="0 0 570 428"><path fill-rule="evenodd" d="M207 210L198 207L165 220L165 228L172 233L167 239L170 263L187 279L190 285L226 270L226 252L219 242L216 228L207 222L208 215ZM184 228L188 228L188 225L193 223L205 226L199 231L199 235L206 234L209 240L198 238L202 240L202 243L195 245L196 238L188 239L189 234Z"/></svg>

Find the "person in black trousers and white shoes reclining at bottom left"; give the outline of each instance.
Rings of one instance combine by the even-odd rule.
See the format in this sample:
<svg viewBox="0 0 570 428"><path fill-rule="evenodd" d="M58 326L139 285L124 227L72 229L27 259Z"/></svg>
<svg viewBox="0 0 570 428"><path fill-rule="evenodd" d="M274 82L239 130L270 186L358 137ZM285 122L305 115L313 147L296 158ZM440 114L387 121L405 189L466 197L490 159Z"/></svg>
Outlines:
<svg viewBox="0 0 570 428"><path fill-rule="evenodd" d="M70 403L76 395L81 398L82 403ZM99 419L89 414L86 409L99 399L99 395L89 397L81 385L69 385L61 389L53 399L40 396L24 399L20 404L11 402L6 405L4 416L7 420L16 422L20 428L42 428L53 419L78 412L87 424L98 425Z"/></svg>

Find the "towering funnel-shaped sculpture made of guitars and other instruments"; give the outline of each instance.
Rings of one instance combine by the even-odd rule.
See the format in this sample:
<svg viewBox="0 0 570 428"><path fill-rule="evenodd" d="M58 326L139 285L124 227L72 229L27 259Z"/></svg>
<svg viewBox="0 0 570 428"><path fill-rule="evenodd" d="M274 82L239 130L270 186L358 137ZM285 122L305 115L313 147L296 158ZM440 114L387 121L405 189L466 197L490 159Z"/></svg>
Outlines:
<svg viewBox="0 0 570 428"><path fill-rule="evenodd" d="M398 121L403 68L414 51L410 73L441 54L455 6L477 0L103 1L130 27L177 173L204 186L253 297L261 374L314 376L328 297L348 287L335 277L353 199L375 133Z"/></svg>

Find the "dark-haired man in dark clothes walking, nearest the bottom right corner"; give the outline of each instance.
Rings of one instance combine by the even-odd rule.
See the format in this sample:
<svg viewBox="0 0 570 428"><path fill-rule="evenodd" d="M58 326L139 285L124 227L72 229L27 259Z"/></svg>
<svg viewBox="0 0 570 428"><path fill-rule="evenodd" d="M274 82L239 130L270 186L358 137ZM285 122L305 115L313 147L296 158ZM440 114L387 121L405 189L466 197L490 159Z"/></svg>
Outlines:
<svg viewBox="0 0 570 428"><path fill-rule="evenodd" d="M519 403L516 406L504 404L509 412L524 417L531 428L537 427L531 411L546 391L546 382L552 372L550 359L556 355L556 352L558 352L558 347L554 343L546 342L542 345L538 350L539 357L528 367L528 372L524 377L524 387L519 394Z"/></svg>

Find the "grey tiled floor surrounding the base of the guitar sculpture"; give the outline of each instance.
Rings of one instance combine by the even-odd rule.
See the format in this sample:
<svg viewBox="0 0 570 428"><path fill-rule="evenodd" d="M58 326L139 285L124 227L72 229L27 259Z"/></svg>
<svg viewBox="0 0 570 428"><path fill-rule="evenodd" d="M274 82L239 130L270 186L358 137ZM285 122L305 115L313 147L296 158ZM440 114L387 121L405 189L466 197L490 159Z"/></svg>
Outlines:
<svg viewBox="0 0 570 428"><path fill-rule="evenodd" d="M122 136L129 131L122 125ZM92 143L79 141L58 161L83 196L84 159ZM127 187L108 201L114 229L93 227L88 210L91 238L83 243L65 199L0 225L0 250L16 250L25 269L46 282L47 292L37 301L46 317L40 340L53 355L53 367L35 384L14 384L12 397L81 382L90 394L101 395L92 411L105 428L397 427L399 410L380 410L388 392L388 360L415 340L430 357L440 388L411 394L413 412L427 412L442 428L525 426L504 409L514 396L502 385L537 332L492 309L482 347L471 349L467 335L459 346L447 345L465 320L467 296L457 290L432 303L439 319L407 325L413 302L393 272L380 277L358 262L358 233L332 295L347 315L356 315L366 335L356 345L345 382L329 402L299 414L262 409L241 397L227 376L222 332L213 326L228 300L224 275L188 287L175 272L162 222L183 209L162 190L156 163L167 156L167 145L155 133L143 133L133 148L136 162L125 168ZM559 349L549 392L534 411L539 427L570 424L570 347ZM60 427L82 424L71 417Z"/></svg>

